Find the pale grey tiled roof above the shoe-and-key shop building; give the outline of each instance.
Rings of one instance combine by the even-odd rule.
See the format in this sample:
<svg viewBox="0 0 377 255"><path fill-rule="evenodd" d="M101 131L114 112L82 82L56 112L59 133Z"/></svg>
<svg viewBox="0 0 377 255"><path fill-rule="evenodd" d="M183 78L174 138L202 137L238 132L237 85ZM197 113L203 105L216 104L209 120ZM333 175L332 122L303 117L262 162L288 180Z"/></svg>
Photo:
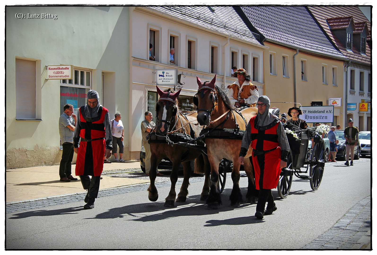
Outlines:
<svg viewBox="0 0 377 255"><path fill-rule="evenodd" d="M231 6L148 6L151 9L212 29L225 35L258 44L257 34L252 33Z"/></svg>

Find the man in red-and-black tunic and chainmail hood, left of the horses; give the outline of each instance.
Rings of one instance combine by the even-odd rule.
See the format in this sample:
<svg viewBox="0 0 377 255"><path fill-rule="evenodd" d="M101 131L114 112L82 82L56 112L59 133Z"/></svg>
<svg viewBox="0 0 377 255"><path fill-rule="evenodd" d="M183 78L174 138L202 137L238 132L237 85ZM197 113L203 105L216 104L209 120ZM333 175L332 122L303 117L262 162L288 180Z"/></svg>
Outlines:
<svg viewBox="0 0 377 255"><path fill-rule="evenodd" d="M111 156L112 149L109 111L99 104L99 99L97 91L89 90L87 104L80 107L74 134L74 150L77 153L76 175L80 176L84 190L88 190L84 199L84 209L94 208L94 200L100 189L105 147L106 158Z"/></svg>

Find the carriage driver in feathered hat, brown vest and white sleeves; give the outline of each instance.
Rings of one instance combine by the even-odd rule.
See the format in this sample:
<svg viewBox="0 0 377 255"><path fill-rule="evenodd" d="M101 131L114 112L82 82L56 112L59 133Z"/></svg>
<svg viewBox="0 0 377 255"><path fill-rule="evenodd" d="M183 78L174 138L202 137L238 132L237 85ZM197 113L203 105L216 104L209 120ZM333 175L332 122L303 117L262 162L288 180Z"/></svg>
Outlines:
<svg viewBox="0 0 377 255"><path fill-rule="evenodd" d="M239 68L234 75L237 79L233 84L228 86L228 98L230 102L236 107L253 106L259 98L257 87L250 82L250 75L244 68Z"/></svg>

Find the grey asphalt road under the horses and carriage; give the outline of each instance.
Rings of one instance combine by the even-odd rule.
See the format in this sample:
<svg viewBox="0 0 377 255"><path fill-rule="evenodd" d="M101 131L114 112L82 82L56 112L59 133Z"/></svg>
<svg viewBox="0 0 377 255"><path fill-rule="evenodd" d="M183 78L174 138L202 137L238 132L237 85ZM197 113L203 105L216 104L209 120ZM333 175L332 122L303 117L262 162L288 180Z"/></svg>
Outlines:
<svg viewBox="0 0 377 255"><path fill-rule="evenodd" d="M300 249L371 195L371 159L343 163L326 163L317 191L296 177L286 199L273 190L278 209L263 220L255 203L229 207L228 173L218 210L205 208L203 182L192 181L187 201L172 208L163 206L165 185L157 202L141 190L99 197L91 210L79 201L7 213L6 249ZM245 197L247 178L240 187Z"/></svg>

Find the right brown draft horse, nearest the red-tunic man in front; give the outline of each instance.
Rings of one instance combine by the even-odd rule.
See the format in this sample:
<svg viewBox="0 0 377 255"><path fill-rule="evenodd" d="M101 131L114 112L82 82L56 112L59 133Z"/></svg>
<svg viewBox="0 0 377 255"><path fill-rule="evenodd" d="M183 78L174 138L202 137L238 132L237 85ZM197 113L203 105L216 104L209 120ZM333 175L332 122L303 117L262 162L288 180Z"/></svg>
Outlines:
<svg viewBox="0 0 377 255"><path fill-rule="evenodd" d="M218 86L215 85L216 74L211 82L202 83L199 77L196 77L199 89L198 93L194 96L193 100L198 107L198 123L202 126L208 126L209 129L215 128L220 123L222 123L225 118L228 119L224 122L222 126L223 129L237 129L237 124L239 130L246 130L245 121L236 112L234 106L231 105L227 95ZM242 116L244 116L246 123L251 117L257 114L257 108L251 107L241 111ZM234 120L236 118L236 121ZM210 120L216 120L211 123ZM213 122L213 121L212 121ZM236 124L237 123L237 124ZM230 206L238 207L240 203L243 202L241 190L239 188L239 167L238 162L239 151L241 149L242 140L232 140L232 139L212 139L210 136L205 138L205 144L207 146L208 160L211 164L211 187L210 195L207 199L207 209L217 209L221 205L221 198L218 188L219 182L219 163L222 158L233 161L233 189L229 197L231 203ZM251 151L249 149L249 151ZM250 154L250 153L249 153ZM250 155L248 155L250 157ZM248 176L248 189L247 189L247 202L255 202L258 193L255 189L255 179L253 167L250 160L244 161L245 172Z"/></svg>

